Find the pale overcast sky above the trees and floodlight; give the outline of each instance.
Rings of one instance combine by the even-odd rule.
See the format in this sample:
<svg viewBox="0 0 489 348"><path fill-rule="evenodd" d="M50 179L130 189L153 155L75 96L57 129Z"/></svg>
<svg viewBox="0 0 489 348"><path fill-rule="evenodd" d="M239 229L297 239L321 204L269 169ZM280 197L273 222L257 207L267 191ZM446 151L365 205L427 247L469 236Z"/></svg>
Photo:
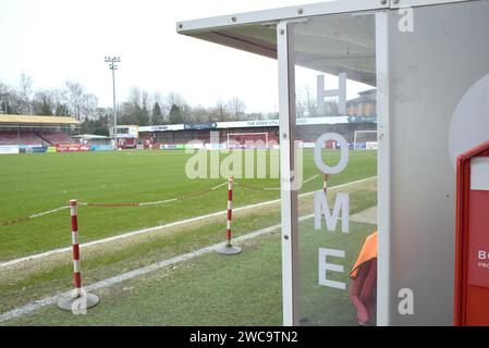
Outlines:
<svg viewBox="0 0 489 348"><path fill-rule="evenodd" d="M317 1L304 1L317 2ZM175 23L302 3L301 0L0 0L0 80L35 88L81 83L112 104L105 55L120 55L118 100L132 86L191 104L212 105L236 96L248 112L276 111L277 62L178 35Z"/></svg>

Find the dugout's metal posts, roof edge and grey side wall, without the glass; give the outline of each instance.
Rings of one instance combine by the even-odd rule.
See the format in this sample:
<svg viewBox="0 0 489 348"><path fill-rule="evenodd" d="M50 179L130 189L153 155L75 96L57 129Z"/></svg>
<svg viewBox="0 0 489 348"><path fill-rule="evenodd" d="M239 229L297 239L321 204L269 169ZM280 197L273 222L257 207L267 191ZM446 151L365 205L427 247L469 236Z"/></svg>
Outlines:
<svg viewBox="0 0 489 348"><path fill-rule="evenodd" d="M487 27L484 22L489 23L489 11L486 11L489 9L488 3L488 0L342 0L176 23L176 30L180 34L278 60L284 325L298 324L296 314L298 281L295 257L297 195L290 189L294 163L291 135L294 134L295 126L294 73L289 60L291 55L290 24L309 17L340 13L371 12L375 14L379 140L377 324L450 325L453 313L453 308L449 303L453 300L451 285L453 285L454 264L455 173L454 169L453 173L450 170L449 151L445 146L449 139L444 132L464 92L475 80L484 76L484 72L489 72L489 66L482 62L489 57L488 50L479 44L480 28ZM473 10L477 7L479 11ZM403 37L395 32L394 15L402 8L414 9L417 15L415 21L419 20L417 25L420 32L431 33L430 38L417 35ZM430 23L426 13L438 9L453 20L453 26L441 18ZM478 20L482 16L485 21L480 23L467 21L465 11L470 14L478 13ZM459 57L456 48L447 44L447 52L456 55L451 59L453 64L462 65L461 71L454 72L452 76L454 82L450 86L441 74L435 78L436 80L423 86L423 74L418 75L416 72L409 75L414 76L409 78L403 77L403 74L407 72L409 60L415 62L417 70L423 71L426 69L438 71L440 64L450 64L447 59L441 62L441 58L438 57L440 54L433 54L437 57L427 60L419 58L423 47L429 47L430 39L432 42L444 39L441 36L443 29L437 30L438 24L447 25L447 32L450 32L453 40L460 40L467 35L464 26L474 26L472 32L474 36L470 38L474 42L464 44L474 48L474 58L468 60L468 58ZM277 29L274 40L270 39L264 30L270 27ZM243 29L243 33L247 35L240 35L239 29ZM447 42L450 44L450 41ZM403 49L402 45L415 47L409 47L412 50L411 51ZM406 57L405 61L403 61L403 54ZM480 57L477 58L477 54ZM437 85L441 89L449 90L437 92L435 87ZM430 89L425 89L428 87ZM427 90L435 92L421 94ZM431 122L429 117L425 119L426 129L417 132L418 134L411 129L414 128L413 124L408 123L411 121L402 125L400 117L408 112L407 109L413 109L413 105L416 107L415 110L409 111L415 114L414 121L420 122L419 120L423 121L423 119L416 117L436 114L438 123ZM413 152L417 151L419 154L405 152L407 146L402 142L402 139L403 135L406 137L403 133L406 127L412 130L408 134L411 138L406 141L408 146L413 146ZM429 139L426 139L427 134ZM489 138L489 134L487 136ZM437 171L445 174L443 179L440 179ZM407 179L409 175L411 181L417 184L415 189L402 186L411 182ZM427 191L431 197L424 196ZM416 200L424 200L428 204L427 212L415 206ZM404 219L403 214L408 214L411 219ZM427 232L424 232L424 228ZM411 254L406 248L411 249ZM419 260L423 261L423 268L419 266L421 264ZM415 287L415 313L403 315L398 312L399 291L409 286Z"/></svg>

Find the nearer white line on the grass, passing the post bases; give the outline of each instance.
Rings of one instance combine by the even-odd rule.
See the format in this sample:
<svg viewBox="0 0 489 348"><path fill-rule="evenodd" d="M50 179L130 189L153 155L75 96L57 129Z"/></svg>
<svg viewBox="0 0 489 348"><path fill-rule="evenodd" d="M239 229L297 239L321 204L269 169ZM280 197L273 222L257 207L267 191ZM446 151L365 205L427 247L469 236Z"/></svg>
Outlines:
<svg viewBox="0 0 489 348"><path fill-rule="evenodd" d="M314 216L314 214L308 214L308 215L305 215L305 216L301 216L298 219L298 221L304 221L304 220L310 219L313 216ZM266 228L262 228L262 229L258 229L258 231L248 233L248 234L246 234L244 236L240 236L237 238L234 238L233 240L235 243L236 241L248 240L248 239L261 236L264 234L271 233L271 232L273 232L276 229L279 229L280 227L281 227L280 224L273 225L273 226L270 226L270 227L266 227ZM216 250L216 248L221 247L222 245L223 245L223 243L218 243L218 244L211 245L209 247L205 247L205 248L201 248L201 249L188 252L188 253L184 253L184 254L181 254L181 256L168 259L168 260L162 260L162 261L149 264L147 266L137 269L137 270L125 272L125 273L122 273L120 275L117 275L117 276L113 276L113 277L110 277L110 278L107 278L107 279L103 279L103 281L90 284L90 285L84 287L84 290L89 293L89 291L98 290L98 289L107 287L107 286L115 285L118 283L121 283L121 282L134 278L136 276L140 276L140 275L147 274L149 272L154 272L154 271L160 270L162 268L170 266L172 264L175 264L175 263L179 263L179 262L183 262L183 261L196 258L196 257L205 254L205 253L209 253L209 252ZM36 300L36 301L29 302L29 303L27 303L25 306L22 306L22 307L12 309L12 310L10 310L8 312L4 312L4 313L0 314L0 323L7 322L7 321L10 321L10 320L23 316L23 315L26 315L26 314L35 311L36 309L53 304L53 303L56 303L58 297L60 297L60 296L70 296L72 294L72 291L73 290L70 290L70 291L66 291L66 293L62 293L62 294L58 294L58 295L54 295L54 296L50 296L50 297L44 298L41 300Z"/></svg>

